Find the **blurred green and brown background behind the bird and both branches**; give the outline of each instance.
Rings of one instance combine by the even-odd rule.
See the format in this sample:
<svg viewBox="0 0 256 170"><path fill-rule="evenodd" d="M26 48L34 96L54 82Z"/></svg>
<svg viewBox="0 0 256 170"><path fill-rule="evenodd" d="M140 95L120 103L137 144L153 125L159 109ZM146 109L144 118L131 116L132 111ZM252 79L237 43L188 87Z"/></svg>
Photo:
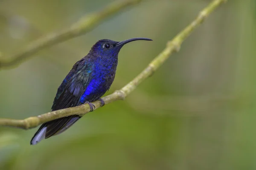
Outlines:
<svg viewBox="0 0 256 170"><path fill-rule="evenodd" d="M113 0L0 0L0 51L15 54ZM107 94L122 88L210 0L144 0L93 31L0 71L0 117L50 111L58 86L99 39L132 42ZM35 146L37 129L0 127L1 170L255 170L256 1L229 0L124 101Z"/></svg>

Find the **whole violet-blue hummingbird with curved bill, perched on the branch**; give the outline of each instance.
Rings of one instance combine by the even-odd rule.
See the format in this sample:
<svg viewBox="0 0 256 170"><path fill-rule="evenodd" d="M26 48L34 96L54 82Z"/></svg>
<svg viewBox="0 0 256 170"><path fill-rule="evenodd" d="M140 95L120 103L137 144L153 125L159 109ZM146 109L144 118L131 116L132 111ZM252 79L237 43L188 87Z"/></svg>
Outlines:
<svg viewBox="0 0 256 170"><path fill-rule="evenodd" d="M90 111L95 106L91 103L100 100L109 90L116 74L118 54L123 45L136 40L149 40L149 38L131 38L124 41L108 39L99 40L90 49L89 53L76 62L58 87L52 105L52 111L71 108L88 103ZM58 135L81 118L79 115L67 116L46 122L41 125L31 139L30 144L38 144L43 139Z"/></svg>

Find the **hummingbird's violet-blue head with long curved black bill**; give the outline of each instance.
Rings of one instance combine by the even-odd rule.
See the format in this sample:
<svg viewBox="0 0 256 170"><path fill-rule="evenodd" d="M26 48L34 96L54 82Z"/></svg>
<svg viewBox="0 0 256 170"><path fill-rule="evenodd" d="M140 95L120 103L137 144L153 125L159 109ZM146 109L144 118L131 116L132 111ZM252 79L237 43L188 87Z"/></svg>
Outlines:
<svg viewBox="0 0 256 170"><path fill-rule="evenodd" d="M118 57L118 53L123 45L128 42L136 41L136 40L149 40L149 38L131 38L124 41L113 41L108 39L99 40L90 50L90 53L96 54L96 57L100 58L116 58Z"/></svg>

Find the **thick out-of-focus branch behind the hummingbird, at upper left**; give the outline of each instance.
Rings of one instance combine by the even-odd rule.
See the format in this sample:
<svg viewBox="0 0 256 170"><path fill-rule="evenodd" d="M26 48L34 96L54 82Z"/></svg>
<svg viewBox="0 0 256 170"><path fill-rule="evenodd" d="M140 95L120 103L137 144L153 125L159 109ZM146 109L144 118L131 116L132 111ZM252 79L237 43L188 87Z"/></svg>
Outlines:
<svg viewBox="0 0 256 170"><path fill-rule="evenodd" d="M113 16L113 14L116 14L117 12L128 6L140 3L141 1L142 0L118 0L99 12L84 16L69 28L52 34L48 34L32 42L30 45L24 48L23 51L20 51L18 54L15 54L12 57L9 57L9 59L1 59L0 69L15 67L25 59L28 59L33 54L40 51L41 49L47 48L65 40L69 40L81 34L85 34L89 32L92 28L98 26L99 23L106 18Z"/></svg>

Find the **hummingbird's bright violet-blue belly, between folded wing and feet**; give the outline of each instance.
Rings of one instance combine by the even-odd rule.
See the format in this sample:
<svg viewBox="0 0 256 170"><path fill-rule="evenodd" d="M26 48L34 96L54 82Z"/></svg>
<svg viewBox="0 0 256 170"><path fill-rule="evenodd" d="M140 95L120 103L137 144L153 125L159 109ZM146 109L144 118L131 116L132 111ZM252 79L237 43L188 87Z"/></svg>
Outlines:
<svg viewBox="0 0 256 170"><path fill-rule="evenodd" d="M80 102L84 104L87 102L93 102L103 96L110 88L113 81L108 79L92 79L87 86L84 94L81 96Z"/></svg>

